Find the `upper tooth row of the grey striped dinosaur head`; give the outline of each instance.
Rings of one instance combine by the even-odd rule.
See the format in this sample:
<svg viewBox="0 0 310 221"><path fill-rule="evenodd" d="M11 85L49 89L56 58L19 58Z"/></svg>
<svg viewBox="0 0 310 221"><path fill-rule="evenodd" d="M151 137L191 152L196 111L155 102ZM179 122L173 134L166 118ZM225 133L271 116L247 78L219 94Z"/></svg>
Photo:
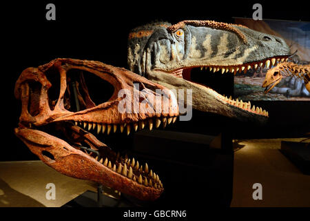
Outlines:
<svg viewBox="0 0 310 221"><path fill-rule="evenodd" d="M203 70L203 68L207 70L208 68L209 71L210 72L213 71L213 73L220 71L222 74L234 73L236 75L237 72L241 73L243 71L244 73L246 73L247 70L257 69L258 67L271 68L270 65L275 66L277 62L280 63L280 62L287 61L287 60L288 58L285 58L285 57L273 57L265 61L258 61L258 62L254 62L251 64L243 64L240 66L202 66L200 67L200 70Z"/></svg>

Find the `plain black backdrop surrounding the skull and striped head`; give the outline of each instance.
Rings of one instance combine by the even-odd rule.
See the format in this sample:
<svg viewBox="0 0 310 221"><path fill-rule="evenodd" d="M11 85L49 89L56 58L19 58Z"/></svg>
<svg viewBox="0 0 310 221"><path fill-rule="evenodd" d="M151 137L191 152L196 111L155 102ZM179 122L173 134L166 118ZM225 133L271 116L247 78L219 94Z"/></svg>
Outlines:
<svg viewBox="0 0 310 221"><path fill-rule="evenodd" d="M54 3L56 21L45 19L45 6ZM256 1L12 1L1 11L2 48L2 153L1 160L37 159L14 136L20 105L14 99L14 82L22 70L56 57L102 61L127 67L127 35L151 21L176 23L184 19L209 19L233 23L232 17L251 18ZM307 7L298 3L260 1L263 19L309 21ZM254 102L269 110L271 123L261 128L236 124L237 137L300 136L309 128L309 102ZM218 131L216 117L195 113L192 122L176 130L194 133ZM202 118L201 118L202 117ZM220 119L220 124L223 123ZM226 125L224 125L226 126ZM232 127L232 126L231 126ZM246 128L244 130L245 127ZM186 129L185 129L186 128ZM238 133L238 131L240 133Z"/></svg>

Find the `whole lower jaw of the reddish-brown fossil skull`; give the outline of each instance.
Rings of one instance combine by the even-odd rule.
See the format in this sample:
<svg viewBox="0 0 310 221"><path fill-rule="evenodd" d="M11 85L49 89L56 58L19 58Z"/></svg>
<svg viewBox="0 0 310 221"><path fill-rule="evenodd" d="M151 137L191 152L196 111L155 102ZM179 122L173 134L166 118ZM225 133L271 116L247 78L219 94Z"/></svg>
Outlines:
<svg viewBox="0 0 310 221"><path fill-rule="evenodd" d="M147 164L141 166L134 158L121 157L90 133L78 126L71 126L69 131L68 126L64 124L62 128L73 135L72 144L32 128L15 128L14 133L40 160L64 175L92 180L140 200L156 200L163 193L161 180ZM81 142L88 140L90 148L81 146Z"/></svg>

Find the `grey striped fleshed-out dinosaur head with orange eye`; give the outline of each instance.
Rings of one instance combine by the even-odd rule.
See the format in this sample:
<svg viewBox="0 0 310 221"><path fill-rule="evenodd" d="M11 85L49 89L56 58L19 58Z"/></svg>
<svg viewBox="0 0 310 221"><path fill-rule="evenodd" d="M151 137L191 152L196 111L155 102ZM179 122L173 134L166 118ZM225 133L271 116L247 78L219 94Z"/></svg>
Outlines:
<svg viewBox="0 0 310 221"><path fill-rule="evenodd" d="M216 21L153 23L130 32L130 70L167 88L192 89L192 106L199 111L265 122L267 112L249 102L233 100L192 81L201 75L246 72L285 61L290 50L279 37ZM220 82L219 82L220 84Z"/></svg>

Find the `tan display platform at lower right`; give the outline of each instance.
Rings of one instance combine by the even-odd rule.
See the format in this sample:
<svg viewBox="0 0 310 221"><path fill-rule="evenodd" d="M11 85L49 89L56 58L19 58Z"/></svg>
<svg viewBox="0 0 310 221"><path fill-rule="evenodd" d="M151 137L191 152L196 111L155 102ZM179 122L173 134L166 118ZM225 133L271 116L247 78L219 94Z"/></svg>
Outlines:
<svg viewBox="0 0 310 221"><path fill-rule="evenodd" d="M281 141L302 140L234 140L237 151L231 206L310 206L310 175L304 175L280 152ZM255 183L262 184L262 200L252 198Z"/></svg>

